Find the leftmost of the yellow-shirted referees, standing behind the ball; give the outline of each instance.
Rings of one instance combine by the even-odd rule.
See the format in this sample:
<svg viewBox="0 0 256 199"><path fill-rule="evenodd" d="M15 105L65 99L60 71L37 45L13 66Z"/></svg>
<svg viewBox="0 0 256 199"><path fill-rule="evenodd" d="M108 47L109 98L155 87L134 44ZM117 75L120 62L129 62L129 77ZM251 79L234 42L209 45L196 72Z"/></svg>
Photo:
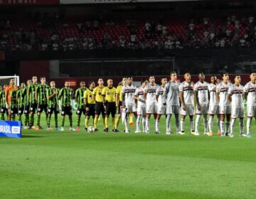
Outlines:
<svg viewBox="0 0 256 199"><path fill-rule="evenodd" d="M95 88L95 82L89 82L89 88L84 92L84 104L85 104L85 131L88 129L89 119L92 116L92 126L95 119L95 99L93 98L92 92Z"/></svg>

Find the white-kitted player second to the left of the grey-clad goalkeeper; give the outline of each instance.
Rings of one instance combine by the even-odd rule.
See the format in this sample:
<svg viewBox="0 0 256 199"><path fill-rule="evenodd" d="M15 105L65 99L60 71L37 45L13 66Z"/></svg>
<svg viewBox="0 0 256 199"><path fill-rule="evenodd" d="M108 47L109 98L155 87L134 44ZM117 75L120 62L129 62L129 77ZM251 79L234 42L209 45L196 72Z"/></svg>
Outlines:
<svg viewBox="0 0 256 199"><path fill-rule="evenodd" d="M156 85L154 75L149 77L149 84L144 89L144 99L146 100L146 134L149 134L149 119L151 114L154 114L156 124L157 102L156 90L159 85Z"/></svg>

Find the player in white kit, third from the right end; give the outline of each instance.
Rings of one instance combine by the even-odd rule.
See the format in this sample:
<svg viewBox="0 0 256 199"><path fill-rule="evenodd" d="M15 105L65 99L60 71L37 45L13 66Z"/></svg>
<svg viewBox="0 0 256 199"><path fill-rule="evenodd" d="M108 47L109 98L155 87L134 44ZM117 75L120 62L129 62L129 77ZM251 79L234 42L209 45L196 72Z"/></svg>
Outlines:
<svg viewBox="0 0 256 199"><path fill-rule="evenodd" d="M228 100L228 89L233 85L229 82L228 72L221 74L223 82L220 82L216 88L216 99L220 105L220 131L221 136L228 136L228 130L230 127L230 115L231 115L231 103ZM224 130L224 121L227 118L226 129Z"/></svg>

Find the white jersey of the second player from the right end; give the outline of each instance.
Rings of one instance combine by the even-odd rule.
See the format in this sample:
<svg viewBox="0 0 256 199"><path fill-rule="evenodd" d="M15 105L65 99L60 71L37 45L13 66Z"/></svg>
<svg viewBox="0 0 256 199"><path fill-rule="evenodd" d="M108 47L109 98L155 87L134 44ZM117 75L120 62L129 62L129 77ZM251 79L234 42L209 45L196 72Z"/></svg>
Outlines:
<svg viewBox="0 0 256 199"><path fill-rule="evenodd" d="M242 85L233 85L229 87L228 94L232 95L231 99L231 106L232 108L243 108L245 107L243 104L242 94L243 94L244 87Z"/></svg>

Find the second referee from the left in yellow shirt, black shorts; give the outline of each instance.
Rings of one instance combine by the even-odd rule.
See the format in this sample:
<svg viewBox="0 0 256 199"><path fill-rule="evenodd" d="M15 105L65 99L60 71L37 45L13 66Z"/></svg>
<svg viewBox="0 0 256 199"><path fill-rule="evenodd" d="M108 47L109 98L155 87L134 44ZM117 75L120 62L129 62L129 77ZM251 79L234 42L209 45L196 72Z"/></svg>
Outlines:
<svg viewBox="0 0 256 199"><path fill-rule="evenodd" d="M102 122L104 129L106 129L105 126L105 109L102 104L102 90L104 88L104 82L102 78L99 78L97 81L98 86L95 87L95 89L92 92L93 99L95 100L95 119L94 119L94 129L95 131L98 131L97 129L97 122L99 120L100 114L102 114Z"/></svg>

